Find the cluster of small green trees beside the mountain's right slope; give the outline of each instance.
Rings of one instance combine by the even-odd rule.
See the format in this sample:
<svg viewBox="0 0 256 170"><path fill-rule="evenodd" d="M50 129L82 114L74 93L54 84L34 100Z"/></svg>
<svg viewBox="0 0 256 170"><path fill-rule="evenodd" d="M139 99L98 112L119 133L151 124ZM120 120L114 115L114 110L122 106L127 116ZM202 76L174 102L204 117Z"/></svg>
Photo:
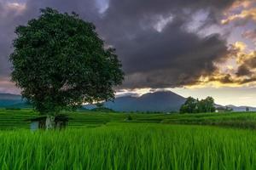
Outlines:
<svg viewBox="0 0 256 170"><path fill-rule="evenodd" d="M202 112L215 112L214 99L207 97L206 99L187 98L185 103L180 107L180 113L202 113Z"/></svg>

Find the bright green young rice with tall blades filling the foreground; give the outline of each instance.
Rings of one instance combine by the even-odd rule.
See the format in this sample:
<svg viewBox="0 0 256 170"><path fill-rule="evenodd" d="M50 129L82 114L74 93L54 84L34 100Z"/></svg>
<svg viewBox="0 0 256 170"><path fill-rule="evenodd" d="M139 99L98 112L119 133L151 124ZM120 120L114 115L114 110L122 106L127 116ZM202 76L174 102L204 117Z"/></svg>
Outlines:
<svg viewBox="0 0 256 170"><path fill-rule="evenodd" d="M256 169L256 132L108 123L62 131L0 131L0 169Z"/></svg>

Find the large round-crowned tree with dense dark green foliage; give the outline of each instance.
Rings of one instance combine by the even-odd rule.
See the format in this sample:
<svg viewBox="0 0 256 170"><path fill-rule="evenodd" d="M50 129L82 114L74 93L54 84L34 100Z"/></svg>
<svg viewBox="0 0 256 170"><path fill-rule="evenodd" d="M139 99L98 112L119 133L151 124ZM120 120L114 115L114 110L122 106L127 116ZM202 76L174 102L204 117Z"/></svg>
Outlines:
<svg viewBox="0 0 256 170"><path fill-rule="evenodd" d="M12 80L41 114L113 99L124 73L92 23L44 8L15 33Z"/></svg>

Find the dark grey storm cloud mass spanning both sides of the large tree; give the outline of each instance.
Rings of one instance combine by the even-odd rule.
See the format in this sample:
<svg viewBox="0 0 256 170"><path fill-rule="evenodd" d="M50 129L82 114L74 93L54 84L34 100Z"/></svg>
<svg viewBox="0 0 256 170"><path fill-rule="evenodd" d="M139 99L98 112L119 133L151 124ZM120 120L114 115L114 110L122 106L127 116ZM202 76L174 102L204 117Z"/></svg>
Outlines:
<svg viewBox="0 0 256 170"><path fill-rule="evenodd" d="M202 26L218 24L225 8L235 0L110 0L105 13L99 14L96 1L28 0L20 14L9 10L0 18L0 76L9 75L8 55L15 26L38 16L38 9L51 7L61 12L75 11L94 22L108 45L117 49L126 73L120 88L166 88L196 83L201 76L216 70L212 62L228 53L224 37L201 37L189 31L188 23L199 10L207 14ZM8 11L1 5L0 11ZM2 15L2 13L0 12ZM162 30L155 29L163 22Z"/></svg>

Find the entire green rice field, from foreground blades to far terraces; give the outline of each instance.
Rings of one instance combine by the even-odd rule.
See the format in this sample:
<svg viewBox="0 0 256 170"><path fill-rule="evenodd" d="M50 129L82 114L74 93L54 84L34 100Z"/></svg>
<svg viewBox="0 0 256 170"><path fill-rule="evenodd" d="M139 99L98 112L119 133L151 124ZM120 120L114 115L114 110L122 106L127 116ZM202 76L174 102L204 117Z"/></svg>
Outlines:
<svg viewBox="0 0 256 170"><path fill-rule="evenodd" d="M0 110L0 169L256 169L253 112L63 114L66 129L32 132L37 113Z"/></svg>

